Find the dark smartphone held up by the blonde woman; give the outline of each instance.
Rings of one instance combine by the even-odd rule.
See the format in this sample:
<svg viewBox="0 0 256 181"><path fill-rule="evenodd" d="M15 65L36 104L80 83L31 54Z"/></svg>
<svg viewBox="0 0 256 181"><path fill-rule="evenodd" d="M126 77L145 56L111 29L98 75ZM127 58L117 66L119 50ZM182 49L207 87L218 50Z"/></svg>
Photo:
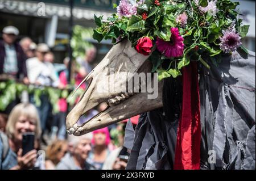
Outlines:
<svg viewBox="0 0 256 181"><path fill-rule="evenodd" d="M35 133L22 134L22 155L34 150Z"/></svg>

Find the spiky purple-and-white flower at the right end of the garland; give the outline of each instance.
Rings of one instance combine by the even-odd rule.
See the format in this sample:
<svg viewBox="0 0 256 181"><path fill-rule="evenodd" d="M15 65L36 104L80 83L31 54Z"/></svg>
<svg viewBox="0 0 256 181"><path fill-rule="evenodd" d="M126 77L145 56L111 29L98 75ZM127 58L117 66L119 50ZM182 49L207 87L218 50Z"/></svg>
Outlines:
<svg viewBox="0 0 256 181"><path fill-rule="evenodd" d="M222 31L222 33L223 36L220 37L220 48L224 53L234 52L238 47L240 47L240 45L242 45L241 36L239 33L236 33L235 28L232 30Z"/></svg>

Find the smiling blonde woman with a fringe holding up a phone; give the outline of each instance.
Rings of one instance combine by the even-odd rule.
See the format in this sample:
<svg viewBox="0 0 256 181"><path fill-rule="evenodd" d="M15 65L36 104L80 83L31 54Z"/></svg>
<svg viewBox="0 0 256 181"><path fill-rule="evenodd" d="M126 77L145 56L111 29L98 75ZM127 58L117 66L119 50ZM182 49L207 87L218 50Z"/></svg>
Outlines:
<svg viewBox="0 0 256 181"><path fill-rule="evenodd" d="M38 148L41 128L38 111L30 103L16 105L9 115L6 134L0 137L0 169L32 169L35 166L37 151L28 151L22 155L22 135L35 134L35 147Z"/></svg>

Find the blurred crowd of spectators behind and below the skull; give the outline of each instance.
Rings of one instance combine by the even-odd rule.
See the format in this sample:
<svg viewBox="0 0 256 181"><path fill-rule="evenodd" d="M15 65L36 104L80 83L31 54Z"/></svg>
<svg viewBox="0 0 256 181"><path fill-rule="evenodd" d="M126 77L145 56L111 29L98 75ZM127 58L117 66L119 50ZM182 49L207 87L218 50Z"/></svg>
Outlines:
<svg viewBox="0 0 256 181"><path fill-rule="evenodd" d="M58 71L47 44L36 44L30 37L17 41L18 35L14 26L2 30L0 75L9 75L38 89L67 89L69 58L63 60L65 68ZM85 57L72 61L74 87L92 71L95 56L96 48L92 46L85 50ZM86 89L86 83L81 89ZM125 169L129 157L129 151L123 147L127 120L80 137L69 136L65 129L67 101L61 98L56 103L60 112L53 115L47 95L40 95L40 106L34 99L34 95L28 95L27 101L15 100L5 112L0 112L0 169ZM106 107L105 103L100 104L97 110L83 115L79 123ZM34 149L24 154L23 134L28 132L34 134Z"/></svg>

